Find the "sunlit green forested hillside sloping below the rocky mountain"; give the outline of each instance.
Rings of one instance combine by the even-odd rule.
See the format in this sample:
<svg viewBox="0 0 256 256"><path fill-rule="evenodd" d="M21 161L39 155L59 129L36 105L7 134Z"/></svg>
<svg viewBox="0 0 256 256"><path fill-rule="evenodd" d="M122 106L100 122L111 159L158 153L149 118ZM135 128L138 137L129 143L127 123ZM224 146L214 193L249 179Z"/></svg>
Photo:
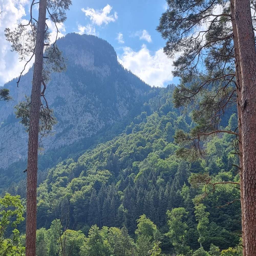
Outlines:
<svg viewBox="0 0 256 256"><path fill-rule="evenodd" d="M211 244L221 250L238 246L241 234L241 212L236 201L239 187L226 184L216 185L215 189L205 188L189 178L193 174L208 173L212 183L238 181L232 136L225 134L209 139L205 143L205 159L190 162L175 156L178 148L173 143L175 130L187 131L193 123L189 113L184 115L173 107L173 89L168 86L145 103L142 112L119 136L86 151L75 161L69 158L48 170L38 188L38 234L44 233L38 243L48 243L46 237L50 231L45 228L52 229L52 221L60 219L66 228L81 230L82 237L88 232L89 237L100 232L103 238L98 243L106 245L102 250L113 249L108 237L112 232L128 232L135 242L131 248L141 250L138 255L145 255L143 253L151 250L156 241L161 241L162 250L169 253L197 250L200 243L206 251L214 248ZM234 129L236 115L225 119L226 128ZM24 188L13 189L9 190L11 194L25 196ZM201 198L205 193L209 194ZM149 232L147 228L138 231L138 223L149 221L147 218L154 223L155 231L151 236L145 233ZM106 227L125 229L108 230ZM123 235L127 238L128 233ZM142 242L141 236L148 240ZM85 240L86 243L89 240ZM79 251L82 241L83 238L77 241ZM83 255L91 255L85 251ZM75 255L72 253L69 255Z"/></svg>

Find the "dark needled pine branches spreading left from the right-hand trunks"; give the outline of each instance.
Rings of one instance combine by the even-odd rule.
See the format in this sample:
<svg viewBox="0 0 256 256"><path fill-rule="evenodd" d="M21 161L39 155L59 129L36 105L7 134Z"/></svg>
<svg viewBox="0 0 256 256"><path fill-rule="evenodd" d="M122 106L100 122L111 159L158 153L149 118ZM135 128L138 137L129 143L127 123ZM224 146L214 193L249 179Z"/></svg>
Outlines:
<svg viewBox="0 0 256 256"><path fill-rule="evenodd" d="M218 19L214 10L219 7ZM174 141L180 146L177 154L186 159L205 156L207 139L223 132L229 132L233 145L237 144L237 115L232 114L227 122L236 111L239 87L234 55L228 54L231 48L234 51L228 18L231 9L230 1L168 0L157 26L166 40L165 54L179 54L173 73L181 79L174 89L173 103L190 113L192 125L177 126ZM204 30L205 17L209 26Z"/></svg>

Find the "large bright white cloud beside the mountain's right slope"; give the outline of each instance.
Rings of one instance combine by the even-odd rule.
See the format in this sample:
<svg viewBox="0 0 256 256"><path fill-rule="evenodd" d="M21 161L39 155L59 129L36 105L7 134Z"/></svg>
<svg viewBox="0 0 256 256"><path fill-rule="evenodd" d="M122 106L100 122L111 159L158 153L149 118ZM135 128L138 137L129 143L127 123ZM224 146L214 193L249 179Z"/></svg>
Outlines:
<svg viewBox="0 0 256 256"><path fill-rule="evenodd" d="M163 87L173 79L173 61L164 54L163 48L151 54L146 45L139 51L130 47L123 48L124 53L118 57L119 62L151 86Z"/></svg>

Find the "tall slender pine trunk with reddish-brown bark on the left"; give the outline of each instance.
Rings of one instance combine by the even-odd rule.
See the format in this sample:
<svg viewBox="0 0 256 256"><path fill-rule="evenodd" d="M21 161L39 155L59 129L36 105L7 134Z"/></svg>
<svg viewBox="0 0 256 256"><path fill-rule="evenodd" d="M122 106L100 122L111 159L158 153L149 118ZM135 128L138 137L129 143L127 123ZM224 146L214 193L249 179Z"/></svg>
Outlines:
<svg viewBox="0 0 256 256"><path fill-rule="evenodd" d="M40 94L44 55L46 2L47 0L39 1L39 16L35 46L35 63L31 91L27 165L26 256L36 256L37 153L39 111L41 103Z"/></svg>

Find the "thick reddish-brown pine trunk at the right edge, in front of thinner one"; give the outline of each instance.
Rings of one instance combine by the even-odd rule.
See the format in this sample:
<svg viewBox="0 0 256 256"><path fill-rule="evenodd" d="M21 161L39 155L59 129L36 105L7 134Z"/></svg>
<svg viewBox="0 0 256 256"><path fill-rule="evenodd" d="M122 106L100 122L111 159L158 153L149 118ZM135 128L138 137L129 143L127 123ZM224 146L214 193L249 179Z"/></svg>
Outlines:
<svg viewBox="0 0 256 256"><path fill-rule="evenodd" d="M234 0L241 63L244 247L256 255L256 49L249 0Z"/></svg>

